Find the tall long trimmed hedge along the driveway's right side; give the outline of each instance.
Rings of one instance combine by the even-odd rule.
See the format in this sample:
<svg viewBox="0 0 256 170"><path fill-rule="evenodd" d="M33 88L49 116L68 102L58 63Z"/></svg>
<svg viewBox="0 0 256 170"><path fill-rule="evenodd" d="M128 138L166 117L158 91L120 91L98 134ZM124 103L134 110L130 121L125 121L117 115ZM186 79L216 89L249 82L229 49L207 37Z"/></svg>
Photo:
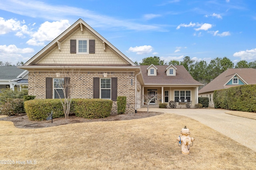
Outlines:
<svg viewBox="0 0 256 170"><path fill-rule="evenodd" d="M256 85L216 90L213 101L215 108L256 112Z"/></svg>

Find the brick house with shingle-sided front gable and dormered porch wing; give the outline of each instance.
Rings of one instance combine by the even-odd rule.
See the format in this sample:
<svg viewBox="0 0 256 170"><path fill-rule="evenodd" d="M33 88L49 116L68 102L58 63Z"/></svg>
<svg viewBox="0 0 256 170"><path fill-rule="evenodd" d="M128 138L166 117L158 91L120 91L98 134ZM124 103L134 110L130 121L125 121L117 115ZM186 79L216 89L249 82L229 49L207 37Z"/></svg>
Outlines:
<svg viewBox="0 0 256 170"><path fill-rule="evenodd" d="M202 84L193 80L184 67L152 65L150 71L151 67L158 69L154 70L155 76L145 76L147 68L134 64L81 19L19 66L29 71L28 94L37 99L59 98L58 94L63 98L62 85L70 82L75 85L72 98L111 99L112 112L117 111L117 96L126 96L126 113L134 113L148 89L159 94L168 91L168 100L174 100L175 90L189 91L197 103L198 86ZM166 81L167 76L177 82Z"/></svg>

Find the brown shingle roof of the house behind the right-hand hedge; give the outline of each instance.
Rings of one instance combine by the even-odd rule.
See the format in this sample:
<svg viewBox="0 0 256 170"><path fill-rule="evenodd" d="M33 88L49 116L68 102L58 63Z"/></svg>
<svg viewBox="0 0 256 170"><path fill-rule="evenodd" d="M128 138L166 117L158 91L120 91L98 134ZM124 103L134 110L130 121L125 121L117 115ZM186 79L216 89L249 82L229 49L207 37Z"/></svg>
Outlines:
<svg viewBox="0 0 256 170"><path fill-rule="evenodd" d="M214 78L210 83L204 86L198 91L198 94L213 92L214 90L220 90L224 88L229 88L232 86L240 85L226 85L234 76L241 78L245 84L256 84L256 69L254 68L228 68L226 71L222 72L219 76Z"/></svg>

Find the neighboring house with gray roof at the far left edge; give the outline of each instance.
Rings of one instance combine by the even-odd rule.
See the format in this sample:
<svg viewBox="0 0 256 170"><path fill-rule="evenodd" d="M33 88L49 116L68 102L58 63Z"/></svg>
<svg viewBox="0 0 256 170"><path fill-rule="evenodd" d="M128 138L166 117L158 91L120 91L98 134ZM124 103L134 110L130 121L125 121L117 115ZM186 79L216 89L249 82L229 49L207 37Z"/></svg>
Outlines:
<svg viewBox="0 0 256 170"><path fill-rule="evenodd" d="M3 88L21 89L28 86L28 71L17 66L0 66L0 90Z"/></svg>

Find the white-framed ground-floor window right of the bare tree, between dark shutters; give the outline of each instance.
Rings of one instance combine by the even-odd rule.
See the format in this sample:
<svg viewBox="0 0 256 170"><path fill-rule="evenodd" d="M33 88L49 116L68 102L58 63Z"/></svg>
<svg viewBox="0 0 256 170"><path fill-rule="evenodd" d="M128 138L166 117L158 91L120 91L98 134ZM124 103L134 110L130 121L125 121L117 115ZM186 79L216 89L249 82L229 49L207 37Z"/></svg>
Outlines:
<svg viewBox="0 0 256 170"><path fill-rule="evenodd" d="M100 79L100 98L111 99L111 78Z"/></svg>

